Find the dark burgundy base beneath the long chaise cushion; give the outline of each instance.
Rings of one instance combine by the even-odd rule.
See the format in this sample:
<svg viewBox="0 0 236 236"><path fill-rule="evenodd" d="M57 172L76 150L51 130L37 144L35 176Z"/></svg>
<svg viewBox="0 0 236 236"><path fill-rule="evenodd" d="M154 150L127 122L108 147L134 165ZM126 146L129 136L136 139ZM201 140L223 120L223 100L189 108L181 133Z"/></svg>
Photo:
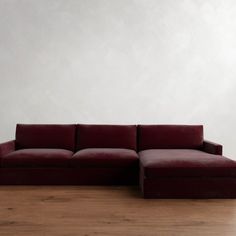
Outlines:
<svg viewBox="0 0 236 236"><path fill-rule="evenodd" d="M141 179L144 198L236 198L233 177L166 177Z"/></svg>

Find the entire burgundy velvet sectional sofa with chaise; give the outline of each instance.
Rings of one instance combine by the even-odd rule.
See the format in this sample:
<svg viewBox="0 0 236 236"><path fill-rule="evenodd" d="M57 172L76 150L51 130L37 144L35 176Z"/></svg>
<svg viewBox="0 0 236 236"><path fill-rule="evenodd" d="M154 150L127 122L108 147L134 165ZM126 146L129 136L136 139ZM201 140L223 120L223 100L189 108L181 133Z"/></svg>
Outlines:
<svg viewBox="0 0 236 236"><path fill-rule="evenodd" d="M202 125L16 126L1 185L140 185L144 198L235 198L236 162Z"/></svg>

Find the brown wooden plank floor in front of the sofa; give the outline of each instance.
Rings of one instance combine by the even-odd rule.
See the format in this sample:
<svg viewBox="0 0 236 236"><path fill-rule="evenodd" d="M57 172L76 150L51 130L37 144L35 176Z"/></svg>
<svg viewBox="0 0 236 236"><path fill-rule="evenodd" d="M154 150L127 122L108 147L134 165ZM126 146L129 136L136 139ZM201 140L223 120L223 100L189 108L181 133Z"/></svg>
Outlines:
<svg viewBox="0 0 236 236"><path fill-rule="evenodd" d="M0 186L0 236L235 236L236 200L146 200L135 187Z"/></svg>

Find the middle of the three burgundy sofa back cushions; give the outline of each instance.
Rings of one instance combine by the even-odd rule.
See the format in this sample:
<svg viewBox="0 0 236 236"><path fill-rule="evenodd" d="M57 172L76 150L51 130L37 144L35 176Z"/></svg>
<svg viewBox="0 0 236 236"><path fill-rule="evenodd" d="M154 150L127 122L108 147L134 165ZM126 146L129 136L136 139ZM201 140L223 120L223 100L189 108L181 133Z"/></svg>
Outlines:
<svg viewBox="0 0 236 236"><path fill-rule="evenodd" d="M77 125L77 149L127 148L136 150L136 125Z"/></svg>

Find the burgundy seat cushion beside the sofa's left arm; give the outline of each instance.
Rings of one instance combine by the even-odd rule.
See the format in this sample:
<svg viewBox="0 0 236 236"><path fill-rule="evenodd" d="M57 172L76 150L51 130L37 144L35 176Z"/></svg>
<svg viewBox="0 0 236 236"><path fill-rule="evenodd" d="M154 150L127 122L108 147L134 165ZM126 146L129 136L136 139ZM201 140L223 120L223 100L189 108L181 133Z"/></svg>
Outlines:
<svg viewBox="0 0 236 236"><path fill-rule="evenodd" d="M64 149L21 149L1 158L1 167L68 167L73 152Z"/></svg>

